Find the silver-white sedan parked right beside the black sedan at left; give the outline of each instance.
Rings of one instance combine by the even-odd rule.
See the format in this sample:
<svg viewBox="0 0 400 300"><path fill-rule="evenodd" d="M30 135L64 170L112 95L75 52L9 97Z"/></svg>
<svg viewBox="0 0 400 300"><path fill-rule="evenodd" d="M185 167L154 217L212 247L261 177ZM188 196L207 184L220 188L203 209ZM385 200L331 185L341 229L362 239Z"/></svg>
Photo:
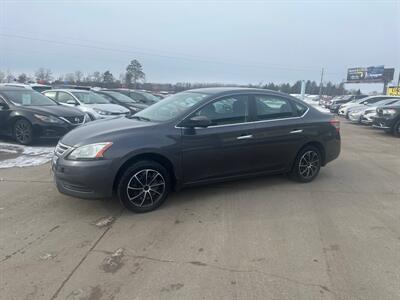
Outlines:
<svg viewBox="0 0 400 300"><path fill-rule="evenodd" d="M92 92L75 89L55 89L43 94L60 104L73 106L89 115L92 120L130 115L129 109L110 103L106 98Z"/></svg>

